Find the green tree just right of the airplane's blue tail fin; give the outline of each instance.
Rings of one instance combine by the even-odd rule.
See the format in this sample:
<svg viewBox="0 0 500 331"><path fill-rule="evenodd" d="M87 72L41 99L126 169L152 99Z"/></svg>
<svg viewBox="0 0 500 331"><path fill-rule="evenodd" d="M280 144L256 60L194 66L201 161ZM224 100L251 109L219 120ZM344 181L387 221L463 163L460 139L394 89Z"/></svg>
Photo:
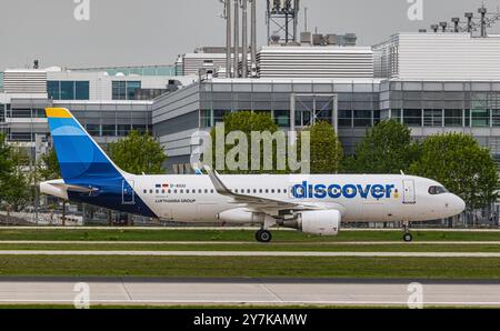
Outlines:
<svg viewBox="0 0 500 331"><path fill-rule="evenodd" d="M149 133L130 131L129 136L108 144L109 157L122 170L130 173L164 173L167 154L160 143Z"/></svg>

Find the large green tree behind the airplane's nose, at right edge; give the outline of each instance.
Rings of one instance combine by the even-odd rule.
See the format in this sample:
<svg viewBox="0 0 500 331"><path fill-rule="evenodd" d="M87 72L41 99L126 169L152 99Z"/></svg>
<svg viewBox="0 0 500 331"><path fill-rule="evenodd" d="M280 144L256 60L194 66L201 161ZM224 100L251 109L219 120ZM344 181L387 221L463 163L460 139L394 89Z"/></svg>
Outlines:
<svg viewBox="0 0 500 331"><path fill-rule="evenodd" d="M460 195L469 211L487 207L498 198L497 163L490 151L471 136L448 133L427 138L421 158L411 164L410 172L439 181Z"/></svg>

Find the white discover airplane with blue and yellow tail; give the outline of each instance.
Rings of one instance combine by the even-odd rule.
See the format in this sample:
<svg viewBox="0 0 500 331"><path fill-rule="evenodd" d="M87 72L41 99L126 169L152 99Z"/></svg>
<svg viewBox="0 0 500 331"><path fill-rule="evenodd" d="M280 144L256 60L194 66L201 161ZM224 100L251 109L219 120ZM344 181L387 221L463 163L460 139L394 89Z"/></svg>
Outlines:
<svg viewBox="0 0 500 331"><path fill-rule="evenodd" d="M401 174L131 174L117 167L66 108L46 109L62 179L40 183L61 199L179 222L260 225L337 235L341 223L410 222L461 213L466 204L437 181Z"/></svg>

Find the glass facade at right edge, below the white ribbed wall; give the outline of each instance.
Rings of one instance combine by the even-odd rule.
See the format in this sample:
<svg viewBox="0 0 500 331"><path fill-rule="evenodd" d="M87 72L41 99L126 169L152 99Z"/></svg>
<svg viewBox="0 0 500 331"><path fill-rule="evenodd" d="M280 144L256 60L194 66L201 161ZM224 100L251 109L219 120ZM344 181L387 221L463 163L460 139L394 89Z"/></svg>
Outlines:
<svg viewBox="0 0 500 331"><path fill-rule="evenodd" d="M410 127L500 127L500 84L496 82L390 82L382 92L392 118Z"/></svg>

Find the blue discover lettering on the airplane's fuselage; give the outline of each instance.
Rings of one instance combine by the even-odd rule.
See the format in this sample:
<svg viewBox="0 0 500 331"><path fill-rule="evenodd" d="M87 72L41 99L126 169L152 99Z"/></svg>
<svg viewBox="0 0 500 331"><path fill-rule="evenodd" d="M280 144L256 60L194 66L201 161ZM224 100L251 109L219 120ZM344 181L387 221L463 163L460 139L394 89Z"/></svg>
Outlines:
<svg viewBox="0 0 500 331"><path fill-rule="evenodd" d="M398 189L394 184L311 184L303 181L301 184L292 187L291 194L296 199L390 199L399 198Z"/></svg>

